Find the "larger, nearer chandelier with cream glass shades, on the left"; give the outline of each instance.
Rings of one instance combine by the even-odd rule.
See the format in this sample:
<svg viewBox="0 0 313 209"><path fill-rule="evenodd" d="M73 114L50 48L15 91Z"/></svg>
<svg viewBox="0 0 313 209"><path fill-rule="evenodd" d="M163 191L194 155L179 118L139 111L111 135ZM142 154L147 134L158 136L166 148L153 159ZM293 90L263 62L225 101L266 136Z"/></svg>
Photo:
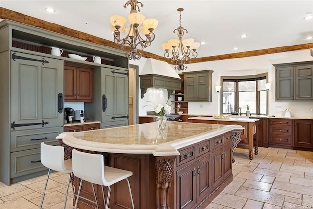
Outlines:
<svg viewBox="0 0 313 209"><path fill-rule="evenodd" d="M151 42L155 39L155 34L153 33L157 27L158 20L156 19L145 19L143 14L140 14L140 8L143 7L141 2L137 0L129 0L125 3L124 8L128 5L131 6L131 12L128 15L128 21L130 22L130 27L125 27L126 18L119 15L113 15L110 17L111 29L114 31L114 43L120 45L124 49L125 45L130 46L130 52L126 52L126 57L128 59L139 60L141 58L141 53L137 51L136 47L138 45L142 46L142 50L151 45ZM138 11L137 11L138 10ZM142 38L138 27L142 34ZM125 38L121 38L121 33L125 31Z"/></svg>

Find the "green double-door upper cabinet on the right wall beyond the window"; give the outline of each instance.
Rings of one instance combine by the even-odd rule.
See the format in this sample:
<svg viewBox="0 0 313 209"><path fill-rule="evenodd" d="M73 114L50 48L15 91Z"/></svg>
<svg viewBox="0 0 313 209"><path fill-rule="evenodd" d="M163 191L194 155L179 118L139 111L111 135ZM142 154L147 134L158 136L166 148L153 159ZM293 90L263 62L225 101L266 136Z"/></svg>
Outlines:
<svg viewBox="0 0 313 209"><path fill-rule="evenodd" d="M285 63L276 68L276 100L313 100L313 62Z"/></svg>

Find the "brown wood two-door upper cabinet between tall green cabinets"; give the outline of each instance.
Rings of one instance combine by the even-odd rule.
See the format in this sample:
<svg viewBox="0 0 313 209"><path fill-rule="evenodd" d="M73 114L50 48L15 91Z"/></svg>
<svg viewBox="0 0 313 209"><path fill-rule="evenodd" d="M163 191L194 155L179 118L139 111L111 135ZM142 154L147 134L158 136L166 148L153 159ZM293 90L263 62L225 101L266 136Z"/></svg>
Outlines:
<svg viewBox="0 0 313 209"><path fill-rule="evenodd" d="M93 101L93 69L82 66L64 66L64 101Z"/></svg>

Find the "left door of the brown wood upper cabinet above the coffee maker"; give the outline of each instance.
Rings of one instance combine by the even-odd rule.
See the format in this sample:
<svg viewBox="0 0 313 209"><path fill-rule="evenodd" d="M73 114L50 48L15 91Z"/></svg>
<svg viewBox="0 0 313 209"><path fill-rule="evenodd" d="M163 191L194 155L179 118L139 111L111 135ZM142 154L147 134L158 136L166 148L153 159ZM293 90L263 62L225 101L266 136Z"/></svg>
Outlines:
<svg viewBox="0 0 313 209"><path fill-rule="evenodd" d="M64 66L64 100L76 100L76 67Z"/></svg>

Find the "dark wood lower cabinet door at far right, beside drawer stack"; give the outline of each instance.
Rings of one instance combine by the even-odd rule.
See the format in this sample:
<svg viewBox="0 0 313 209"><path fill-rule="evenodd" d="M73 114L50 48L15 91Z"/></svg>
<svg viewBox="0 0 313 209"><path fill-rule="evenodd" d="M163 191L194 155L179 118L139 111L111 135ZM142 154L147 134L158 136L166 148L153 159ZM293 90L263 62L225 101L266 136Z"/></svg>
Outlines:
<svg viewBox="0 0 313 209"><path fill-rule="evenodd" d="M294 120L294 146L313 147L313 126L312 120Z"/></svg>

